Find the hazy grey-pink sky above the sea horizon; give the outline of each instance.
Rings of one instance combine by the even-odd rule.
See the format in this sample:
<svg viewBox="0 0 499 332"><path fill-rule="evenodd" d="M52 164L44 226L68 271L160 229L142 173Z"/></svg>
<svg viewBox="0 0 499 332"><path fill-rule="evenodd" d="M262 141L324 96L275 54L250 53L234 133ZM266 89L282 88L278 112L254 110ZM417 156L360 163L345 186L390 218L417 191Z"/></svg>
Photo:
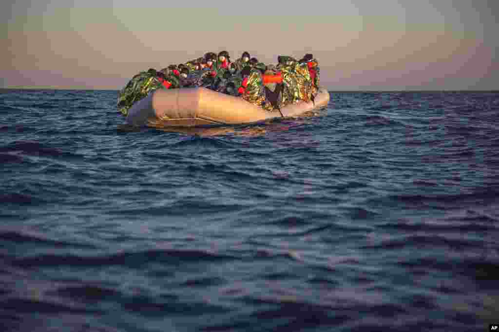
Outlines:
<svg viewBox="0 0 499 332"><path fill-rule="evenodd" d="M498 15L498 0L4 0L0 87L120 89L226 49L313 53L331 90L497 90Z"/></svg>

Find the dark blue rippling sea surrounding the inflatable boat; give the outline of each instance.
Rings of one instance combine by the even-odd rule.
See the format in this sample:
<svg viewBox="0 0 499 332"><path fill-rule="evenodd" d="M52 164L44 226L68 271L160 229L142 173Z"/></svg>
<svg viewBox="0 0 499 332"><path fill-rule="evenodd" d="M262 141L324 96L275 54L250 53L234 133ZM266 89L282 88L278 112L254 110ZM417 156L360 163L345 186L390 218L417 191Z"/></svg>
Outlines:
<svg viewBox="0 0 499 332"><path fill-rule="evenodd" d="M0 91L0 331L499 322L499 93L183 131L116 98Z"/></svg>

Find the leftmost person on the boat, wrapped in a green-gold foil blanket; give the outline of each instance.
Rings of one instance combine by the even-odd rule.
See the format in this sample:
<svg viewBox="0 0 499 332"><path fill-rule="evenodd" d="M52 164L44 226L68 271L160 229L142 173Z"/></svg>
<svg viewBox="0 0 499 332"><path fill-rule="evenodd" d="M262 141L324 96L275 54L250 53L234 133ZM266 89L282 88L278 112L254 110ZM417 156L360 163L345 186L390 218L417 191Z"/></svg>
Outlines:
<svg viewBox="0 0 499 332"><path fill-rule="evenodd" d="M171 82L165 83L165 75L162 72L157 72L155 69L151 68L148 71L140 72L135 75L127 85L121 89L118 95L117 107L119 111L126 116L132 105L147 97L151 91L170 88L172 88L172 84Z"/></svg>

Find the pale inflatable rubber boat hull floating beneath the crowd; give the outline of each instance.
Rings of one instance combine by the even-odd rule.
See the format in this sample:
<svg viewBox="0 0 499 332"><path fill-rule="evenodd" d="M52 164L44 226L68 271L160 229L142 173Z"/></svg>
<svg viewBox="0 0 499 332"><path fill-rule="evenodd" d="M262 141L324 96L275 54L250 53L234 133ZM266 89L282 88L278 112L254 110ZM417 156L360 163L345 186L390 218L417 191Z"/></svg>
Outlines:
<svg viewBox="0 0 499 332"><path fill-rule="evenodd" d="M320 88L315 101L298 102L278 111L266 111L240 97L207 88L154 90L135 103L126 117L133 126L194 127L199 125L242 124L275 117L297 116L327 106L329 93ZM282 113L282 115L281 115Z"/></svg>

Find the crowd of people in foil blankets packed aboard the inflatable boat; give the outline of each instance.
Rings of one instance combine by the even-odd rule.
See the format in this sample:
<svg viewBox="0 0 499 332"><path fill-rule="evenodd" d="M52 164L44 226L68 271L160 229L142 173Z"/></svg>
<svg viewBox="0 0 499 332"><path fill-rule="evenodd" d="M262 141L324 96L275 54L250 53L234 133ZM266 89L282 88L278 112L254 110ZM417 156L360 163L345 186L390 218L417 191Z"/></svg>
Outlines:
<svg viewBox="0 0 499 332"><path fill-rule="evenodd" d="M312 54L296 60L278 56L277 65L265 65L244 52L232 62L229 52L204 57L160 71L149 69L135 75L120 91L118 109L123 115L134 103L156 89L205 87L241 97L268 111L299 101L314 101L319 87L319 64Z"/></svg>

